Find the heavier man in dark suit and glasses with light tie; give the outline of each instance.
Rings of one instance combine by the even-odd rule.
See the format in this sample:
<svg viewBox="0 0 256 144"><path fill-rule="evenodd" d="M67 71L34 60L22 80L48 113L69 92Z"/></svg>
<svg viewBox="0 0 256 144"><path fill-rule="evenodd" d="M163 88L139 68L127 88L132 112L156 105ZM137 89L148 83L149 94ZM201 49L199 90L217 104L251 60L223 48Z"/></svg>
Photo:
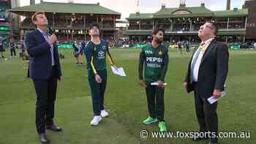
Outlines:
<svg viewBox="0 0 256 144"><path fill-rule="evenodd" d="M184 87L187 92L194 91L195 111L200 132L211 132L194 140L209 139L209 144L217 143L218 117L217 102L210 104L210 96L219 98L224 91L228 70L229 53L227 45L217 42L217 27L213 23L200 26L198 36L202 40L190 59Z"/></svg>

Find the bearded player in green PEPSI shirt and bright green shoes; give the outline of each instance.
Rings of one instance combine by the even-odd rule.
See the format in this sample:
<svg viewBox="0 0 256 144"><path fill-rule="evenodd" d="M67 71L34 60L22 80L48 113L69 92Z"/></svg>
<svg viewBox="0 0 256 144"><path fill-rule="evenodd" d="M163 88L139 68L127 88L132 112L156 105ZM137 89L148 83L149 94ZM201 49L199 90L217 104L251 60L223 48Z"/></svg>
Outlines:
<svg viewBox="0 0 256 144"><path fill-rule="evenodd" d="M153 40L151 45L142 48L138 67L140 86L146 88L148 99L149 117L143 121L143 124L148 125L159 122L160 132L167 132L167 125L164 120L164 79L167 72L169 56L168 49L161 44L164 33L165 31L163 29L154 29L152 31ZM157 86L151 85L154 82L157 82Z"/></svg>

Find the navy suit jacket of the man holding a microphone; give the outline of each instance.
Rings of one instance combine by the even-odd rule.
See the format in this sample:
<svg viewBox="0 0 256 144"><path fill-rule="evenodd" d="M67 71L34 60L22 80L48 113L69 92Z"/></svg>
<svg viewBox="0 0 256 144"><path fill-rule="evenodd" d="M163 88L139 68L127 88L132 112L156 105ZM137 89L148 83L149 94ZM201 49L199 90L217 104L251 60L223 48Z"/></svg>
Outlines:
<svg viewBox="0 0 256 144"><path fill-rule="evenodd" d="M52 74L50 45L46 42L40 31L35 29L26 34L26 48L29 59L29 77L34 80L48 80ZM59 64L58 46L53 44L53 57L56 66L56 77L61 77L61 66Z"/></svg>

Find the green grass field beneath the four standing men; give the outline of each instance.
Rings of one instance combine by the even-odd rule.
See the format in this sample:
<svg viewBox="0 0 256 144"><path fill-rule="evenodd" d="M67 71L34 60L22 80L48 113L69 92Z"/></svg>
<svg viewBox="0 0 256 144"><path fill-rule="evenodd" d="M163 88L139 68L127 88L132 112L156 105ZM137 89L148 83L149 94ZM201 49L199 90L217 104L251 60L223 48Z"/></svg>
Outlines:
<svg viewBox="0 0 256 144"><path fill-rule="evenodd" d="M72 52L63 50L61 60L64 81L59 83L56 101L56 124L64 132L48 132L53 144L204 144L189 138L140 139L140 131L159 131L157 124L144 126L141 120L148 116L146 94L138 85L138 49L112 49L118 67L124 67L127 77L118 77L108 67L108 88L105 106L110 116L99 126L90 126L93 117L91 92L86 67L77 67ZM182 86L189 54L170 50L170 64L165 78L165 121L170 131L195 132L193 94ZM218 106L219 131L251 132L251 138L221 138L221 144L253 144L256 141L256 51L231 51L227 77L227 96ZM26 69L20 58L0 59L0 144L37 144L35 129L35 91L26 78Z"/></svg>

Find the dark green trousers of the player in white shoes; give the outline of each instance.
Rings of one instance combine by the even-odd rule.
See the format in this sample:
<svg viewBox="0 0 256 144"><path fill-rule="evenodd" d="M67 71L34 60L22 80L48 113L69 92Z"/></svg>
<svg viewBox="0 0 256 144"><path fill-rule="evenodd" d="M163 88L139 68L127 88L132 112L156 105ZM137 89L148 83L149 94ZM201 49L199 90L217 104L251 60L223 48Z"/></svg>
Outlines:
<svg viewBox="0 0 256 144"><path fill-rule="evenodd" d="M94 115L100 115L101 110L104 110L104 94L107 85L107 70L97 71L102 78L102 83L97 83L95 75L92 70L89 70L88 80L91 88L91 98L94 110Z"/></svg>

